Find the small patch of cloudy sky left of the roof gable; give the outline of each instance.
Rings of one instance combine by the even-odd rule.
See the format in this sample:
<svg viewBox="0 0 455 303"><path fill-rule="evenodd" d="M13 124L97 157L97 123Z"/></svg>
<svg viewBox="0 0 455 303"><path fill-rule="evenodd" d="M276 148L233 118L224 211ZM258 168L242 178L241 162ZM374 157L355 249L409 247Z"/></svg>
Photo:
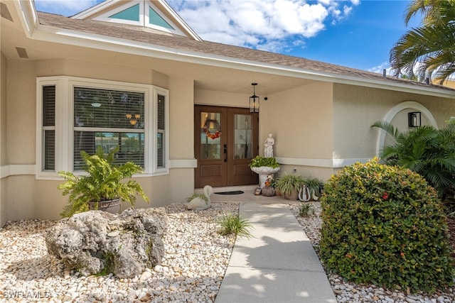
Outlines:
<svg viewBox="0 0 455 303"><path fill-rule="evenodd" d="M99 2L97 0L35 0L35 6L38 11L73 16Z"/></svg>

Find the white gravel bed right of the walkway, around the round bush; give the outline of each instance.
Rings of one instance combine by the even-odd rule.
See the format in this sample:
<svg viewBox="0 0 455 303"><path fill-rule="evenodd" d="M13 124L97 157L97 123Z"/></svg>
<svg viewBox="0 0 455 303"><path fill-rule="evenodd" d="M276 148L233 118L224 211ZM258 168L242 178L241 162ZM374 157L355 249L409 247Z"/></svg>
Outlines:
<svg viewBox="0 0 455 303"><path fill-rule="evenodd" d="M319 202L306 202L311 205L312 214L307 217L299 216L300 203L289 204L289 208L296 216L297 221L304 228L306 235L310 238L311 244L319 251L319 239L321 237L321 204ZM328 273L328 280L332 285L338 302L375 302L375 303L453 303L455 302L455 288L449 288L446 292L435 294L407 294L398 290L386 290L376 285L357 285L343 281L343 277Z"/></svg>

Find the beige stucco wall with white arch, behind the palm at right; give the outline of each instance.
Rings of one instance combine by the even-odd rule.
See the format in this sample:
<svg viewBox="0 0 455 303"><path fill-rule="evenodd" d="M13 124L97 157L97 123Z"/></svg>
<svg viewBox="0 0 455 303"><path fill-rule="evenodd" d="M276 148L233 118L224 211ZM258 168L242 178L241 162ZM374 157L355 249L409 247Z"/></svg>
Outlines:
<svg viewBox="0 0 455 303"><path fill-rule="evenodd" d="M373 158L378 130L370 128L384 119L392 107L405 101L425 106L436 119L438 127L455 114L454 99L429 97L385 89L373 89L347 84L333 85L333 158ZM407 112L401 111L392 124L402 131L407 129ZM422 116L422 124L427 124Z"/></svg>

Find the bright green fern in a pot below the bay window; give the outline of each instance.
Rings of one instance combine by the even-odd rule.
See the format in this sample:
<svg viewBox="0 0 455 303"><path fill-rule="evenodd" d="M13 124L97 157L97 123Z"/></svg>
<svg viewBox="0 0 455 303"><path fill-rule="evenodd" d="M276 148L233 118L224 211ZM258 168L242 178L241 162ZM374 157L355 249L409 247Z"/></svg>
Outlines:
<svg viewBox="0 0 455 303"><path fill-rule="evenodd" d="M92 209L107 210L117 214L122 201L134 206L137 194L149 202L141 184L135 180L122 182L142 172L142 168L133 162L113 165L114 154L117 151L118 147L105 154L101 146L97 148L95 155L81 151L80 155L85 163L85 175L76 176L73 172L58 172L58 175L65 180L58 189L63 190L64 196L70 195L61 216L70 217L78 212Z"/></svg>

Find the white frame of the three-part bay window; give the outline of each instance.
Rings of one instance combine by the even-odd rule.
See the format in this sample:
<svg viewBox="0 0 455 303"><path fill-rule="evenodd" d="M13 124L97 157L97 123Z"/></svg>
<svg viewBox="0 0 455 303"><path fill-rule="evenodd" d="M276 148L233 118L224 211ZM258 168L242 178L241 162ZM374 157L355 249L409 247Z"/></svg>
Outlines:
<svg viewBox="0 0 455 303"><path fill-rule="evenodd" d="M43 87L55 85L55 171L43 170ZM36 178L60 180L58 172L73 171L74 155L74 88L113 89L144 93L144 173L134 177L167 175L168 155L168 90L149 84L116 82L69 76L36 78ZM158 94L165 97L164 167L157 167L156 135L158 133ZM76 172L81 174L83 172Z"/></svg>

